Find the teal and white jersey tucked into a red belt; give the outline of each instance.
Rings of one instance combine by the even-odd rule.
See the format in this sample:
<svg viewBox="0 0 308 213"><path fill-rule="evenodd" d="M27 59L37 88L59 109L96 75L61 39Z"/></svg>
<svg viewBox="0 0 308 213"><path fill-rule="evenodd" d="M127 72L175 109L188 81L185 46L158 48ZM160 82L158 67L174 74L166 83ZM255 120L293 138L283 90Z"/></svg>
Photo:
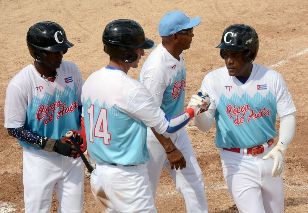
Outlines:
<svg viewBox="0 0 308 213"><path fill-rule="evenodd" d="M296 111L282 76L255 63L245 84L222 67L205 76L201 90L211 98L209 109L216 109L215 145L221 148L260 145L277 136L276 114Z"/></svg>

